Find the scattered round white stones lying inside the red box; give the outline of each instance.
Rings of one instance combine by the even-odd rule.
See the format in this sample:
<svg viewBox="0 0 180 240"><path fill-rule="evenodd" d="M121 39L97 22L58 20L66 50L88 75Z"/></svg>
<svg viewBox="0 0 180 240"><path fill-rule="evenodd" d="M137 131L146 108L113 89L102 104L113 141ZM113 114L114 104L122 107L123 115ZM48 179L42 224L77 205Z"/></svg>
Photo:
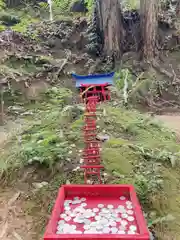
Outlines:
<svg viewBox="0 0 180 240"><path fill-rule="evenodd" d="M56 234L138 234L132 202L121 196L119 203L89 208L86 198L65 200Z"/></svg>

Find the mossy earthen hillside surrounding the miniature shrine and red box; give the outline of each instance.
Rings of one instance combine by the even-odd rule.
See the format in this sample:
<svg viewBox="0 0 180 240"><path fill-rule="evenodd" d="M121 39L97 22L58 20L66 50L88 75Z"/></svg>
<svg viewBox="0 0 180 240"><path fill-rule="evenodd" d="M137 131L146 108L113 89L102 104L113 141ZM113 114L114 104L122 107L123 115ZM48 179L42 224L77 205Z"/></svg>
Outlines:
<svg viewBox="0 0 180 240"><path fill-rule="evenodd" d="M46 16L45 10L41 9L41 17ZM14 10L8 11L12 14ZM5 103L0 127L3 240L40 239L59 186L83 183L79 166L84 106L79 103L71 72L108 72L113 67L108 58L95 57L90 51L87 17L62 18L58 13L49 22L32 15L17 11L21 22L11 29L2 24L0 32ZM133 184L157 239L178 240L180 146L175 131L179 126L171 129L171 119L169 125L163 125L158 120L161 116L154 113L178 114L179 50L163 56L158 68L149 68L142 66L136 54L123 55L115 67L112 100L98 106L97 125L99 135L109 137L101 149L104 183ZM173 88L174 78L164 69L175 71ZM129 90L124 104L126 78Z"/></svg>

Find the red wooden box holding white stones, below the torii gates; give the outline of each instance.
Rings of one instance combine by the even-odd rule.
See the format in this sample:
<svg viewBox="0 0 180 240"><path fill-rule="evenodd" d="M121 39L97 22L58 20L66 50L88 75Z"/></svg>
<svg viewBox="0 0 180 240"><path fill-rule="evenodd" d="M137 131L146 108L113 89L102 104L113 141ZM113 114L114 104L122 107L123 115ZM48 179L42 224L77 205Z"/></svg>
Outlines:
<svg viewBox="0 0 180 240"><path fill-rule="evenodd" d="M137 235L130 234L56 234L56 228L63 211L64 200L75 196L86 197L91 205L92 202L116 203L120 196L125 196L133 204ZM116 200L117 199L117 200ZM92 203L93 204L93 203ZM136 192L131 185L63 185L59 189L58 197L54 205L51 219L46 228L44 240L69 239L69 240L97 240L97 239L119 239L119 240L149 240L149 231L146 226Z"/></svg>

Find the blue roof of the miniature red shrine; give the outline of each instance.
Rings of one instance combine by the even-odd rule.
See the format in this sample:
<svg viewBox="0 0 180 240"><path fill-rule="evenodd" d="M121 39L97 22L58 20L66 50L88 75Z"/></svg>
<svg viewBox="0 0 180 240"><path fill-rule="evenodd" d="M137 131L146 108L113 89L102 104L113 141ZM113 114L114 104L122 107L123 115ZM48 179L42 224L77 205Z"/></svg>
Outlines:
<svg viewBox="0 0 180 240"><path fill-rule="evenodd" d="M81 76L73 73L72 77L76 81L76 87L81 87L81 84L113 85L114 72L106 73L106 74L92 74L92 75L86 75L86 76Z"/></svg>

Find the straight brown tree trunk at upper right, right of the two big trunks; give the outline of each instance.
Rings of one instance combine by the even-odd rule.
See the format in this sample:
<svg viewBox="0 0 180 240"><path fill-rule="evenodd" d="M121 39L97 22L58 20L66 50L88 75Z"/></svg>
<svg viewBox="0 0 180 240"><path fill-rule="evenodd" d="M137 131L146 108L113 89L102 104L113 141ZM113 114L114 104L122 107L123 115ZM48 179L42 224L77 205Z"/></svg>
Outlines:
<svg viewBox="0 0 180 240"><path fill-rule="evenodd" d="M157 54L158 0L141 0L143 58L151 61Z"/></svg>

